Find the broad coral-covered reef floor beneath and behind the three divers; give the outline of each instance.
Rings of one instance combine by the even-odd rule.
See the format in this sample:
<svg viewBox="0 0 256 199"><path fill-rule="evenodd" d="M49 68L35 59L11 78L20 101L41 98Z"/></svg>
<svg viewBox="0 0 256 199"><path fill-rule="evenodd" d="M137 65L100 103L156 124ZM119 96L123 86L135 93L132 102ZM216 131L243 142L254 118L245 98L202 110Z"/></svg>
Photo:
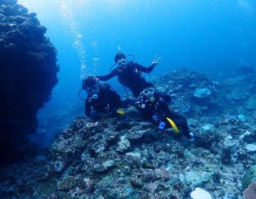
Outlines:
<svg viewBox="0 0 256 199"><path fill-rule="evenodd" d="M256 114L238 108L250 96L241 103L228 99L237 80L227 85L182 68L154 78L154 83L158 89L166 85L165 92L172 90L170 108L187 117L195 142L173 129L159 131L134 107L117 118L104 115L92 121L79 116L49 151L1 170L1 198L182 199L196 188L212 198L242 199L243 192L252 198ZM205 98L200 102L196 89L211 94L196 94L203 97L199 100Z"/></svg>

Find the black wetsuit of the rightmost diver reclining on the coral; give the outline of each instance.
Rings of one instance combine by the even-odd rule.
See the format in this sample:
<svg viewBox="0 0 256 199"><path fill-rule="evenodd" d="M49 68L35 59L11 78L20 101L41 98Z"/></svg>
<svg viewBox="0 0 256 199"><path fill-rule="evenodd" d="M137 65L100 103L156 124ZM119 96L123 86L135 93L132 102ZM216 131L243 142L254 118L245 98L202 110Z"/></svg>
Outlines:
<svg viewBox="0 0 256 199"><path fill-rule="evenodd" d="M175 114L170 111L167 103L162 98L163 94L159 92L154 93L155 101L151 102L148 99L141 97L140 104L138 105L138 110L140 111L141 115L149 122L155 122L153 120L153 116L157 115L159 121L157 124L159 125L160 122L164 122L164 128L172 128L170 122L166 119L166 117L170 118L176 126L182 128L182 133L186 138L191 139L191 135L189 135L189 128L188 122L185 117L181 115ZM168 101L169 102L169 101Z"/></svg>

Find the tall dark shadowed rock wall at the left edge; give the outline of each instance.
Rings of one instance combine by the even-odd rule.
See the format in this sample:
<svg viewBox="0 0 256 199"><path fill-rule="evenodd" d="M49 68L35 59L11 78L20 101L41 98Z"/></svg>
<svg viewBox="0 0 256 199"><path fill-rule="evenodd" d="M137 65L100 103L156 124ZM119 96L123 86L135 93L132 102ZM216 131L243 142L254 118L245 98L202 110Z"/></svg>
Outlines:
<svg viewBox="0 0 256 199"><path fill-rule="evenodd" d="M32 147L26 136L35 133L36 112L58 82L57 51L46 31L17 0L0 0L1 161Z"/></svg>

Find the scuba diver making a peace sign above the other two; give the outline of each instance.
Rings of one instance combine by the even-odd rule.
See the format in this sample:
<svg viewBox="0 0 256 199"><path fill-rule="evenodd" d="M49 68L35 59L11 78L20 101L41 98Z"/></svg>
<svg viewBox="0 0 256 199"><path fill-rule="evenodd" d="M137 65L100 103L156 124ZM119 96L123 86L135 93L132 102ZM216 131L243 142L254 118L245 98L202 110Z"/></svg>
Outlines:
<svg viewBox="0 0 256 199"><path fill-rule="evenodd" d="M149 67L144 67L138 63L134 63L134 60L127 61L128 56L129 55L125 57L124 53L118 52L118 54L115 55L115 64L113 65L117 65L117 68L111 71L108 75L96 77L99 80L108 81L112 77L117 76L118 82L120 82L124 88L128 87L132 91L134 98L138 98L140 96L140 92L143 91L143 89L147 87L154 87L152 83L147 82L145 78L143 78L142 72L150 73L157 66L159 59L162 57L157 59L156 55L152 64L150 64Z"/></svg>

